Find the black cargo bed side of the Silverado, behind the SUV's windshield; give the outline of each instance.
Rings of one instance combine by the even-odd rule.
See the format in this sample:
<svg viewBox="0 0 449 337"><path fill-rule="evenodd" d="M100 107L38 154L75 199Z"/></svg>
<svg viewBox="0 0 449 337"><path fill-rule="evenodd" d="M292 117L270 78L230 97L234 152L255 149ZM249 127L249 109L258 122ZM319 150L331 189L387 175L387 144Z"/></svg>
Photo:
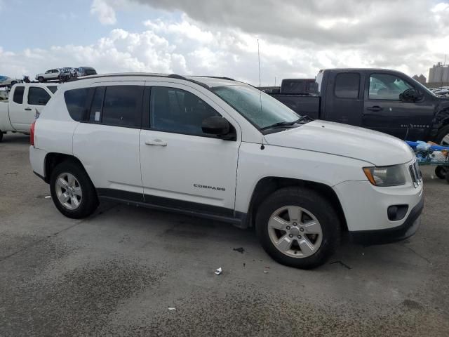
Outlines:
<svg viewBox="0 0 449 337"><path fill-rule="evenodd" d="M290 107L297 114L319 119L320 96L318 95L300 95L294 93L271 93L269 95Z"/></svg>

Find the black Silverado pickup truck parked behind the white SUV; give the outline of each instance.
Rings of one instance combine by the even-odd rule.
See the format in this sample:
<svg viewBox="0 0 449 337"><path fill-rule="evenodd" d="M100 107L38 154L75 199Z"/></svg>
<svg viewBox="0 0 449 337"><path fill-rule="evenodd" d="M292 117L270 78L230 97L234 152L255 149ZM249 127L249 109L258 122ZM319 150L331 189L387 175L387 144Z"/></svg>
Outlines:
<svg viewBox="0 0 449 337"><path fill-rule="evenodd" d="M302 116L337 121L407 140L449 145L449 99L394 70L331 69L318 94L269 93Z"/></svg>

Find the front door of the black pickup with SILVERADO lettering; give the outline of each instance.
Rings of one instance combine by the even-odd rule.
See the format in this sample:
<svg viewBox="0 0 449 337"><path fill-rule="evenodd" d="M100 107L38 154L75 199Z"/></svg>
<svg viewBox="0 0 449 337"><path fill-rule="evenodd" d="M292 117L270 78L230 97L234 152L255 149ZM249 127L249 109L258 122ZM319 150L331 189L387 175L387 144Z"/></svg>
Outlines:
<svg viewBox="0 0 449 337"><path fill-rule="evenodd" d="M367 81L362 126L401 139L424 139L434 105L427 104L425 96L416 103L402 102L399 95L413 85L396 75L373 73Z"/></svg>

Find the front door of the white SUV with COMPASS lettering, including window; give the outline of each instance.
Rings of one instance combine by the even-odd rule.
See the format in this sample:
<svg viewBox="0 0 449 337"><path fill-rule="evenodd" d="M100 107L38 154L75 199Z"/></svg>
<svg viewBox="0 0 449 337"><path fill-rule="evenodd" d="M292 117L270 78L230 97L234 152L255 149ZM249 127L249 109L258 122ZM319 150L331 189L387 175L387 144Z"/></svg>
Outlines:
<svg viewBox="0 0 449 337"><path fill-rule="evenodd" d="M140 133L145 202L233 216L239 125L189 86L147 82L146 96ZM203 133L201 123L211 116L225 117L236 140Z"/></svg>

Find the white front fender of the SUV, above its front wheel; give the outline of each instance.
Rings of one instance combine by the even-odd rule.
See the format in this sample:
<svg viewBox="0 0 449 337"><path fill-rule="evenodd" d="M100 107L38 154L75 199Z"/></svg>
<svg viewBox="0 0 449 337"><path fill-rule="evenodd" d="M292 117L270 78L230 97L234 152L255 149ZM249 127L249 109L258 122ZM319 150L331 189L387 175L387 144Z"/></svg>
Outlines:
<svg viewBox="0 0 449 337"><path fill-rule="evenodd" d="M236 183L236 211L247 213L257 182L266 177L292 178L333 187L347 180L366 181L366 161L290 147L241 143Z"/></svg>

